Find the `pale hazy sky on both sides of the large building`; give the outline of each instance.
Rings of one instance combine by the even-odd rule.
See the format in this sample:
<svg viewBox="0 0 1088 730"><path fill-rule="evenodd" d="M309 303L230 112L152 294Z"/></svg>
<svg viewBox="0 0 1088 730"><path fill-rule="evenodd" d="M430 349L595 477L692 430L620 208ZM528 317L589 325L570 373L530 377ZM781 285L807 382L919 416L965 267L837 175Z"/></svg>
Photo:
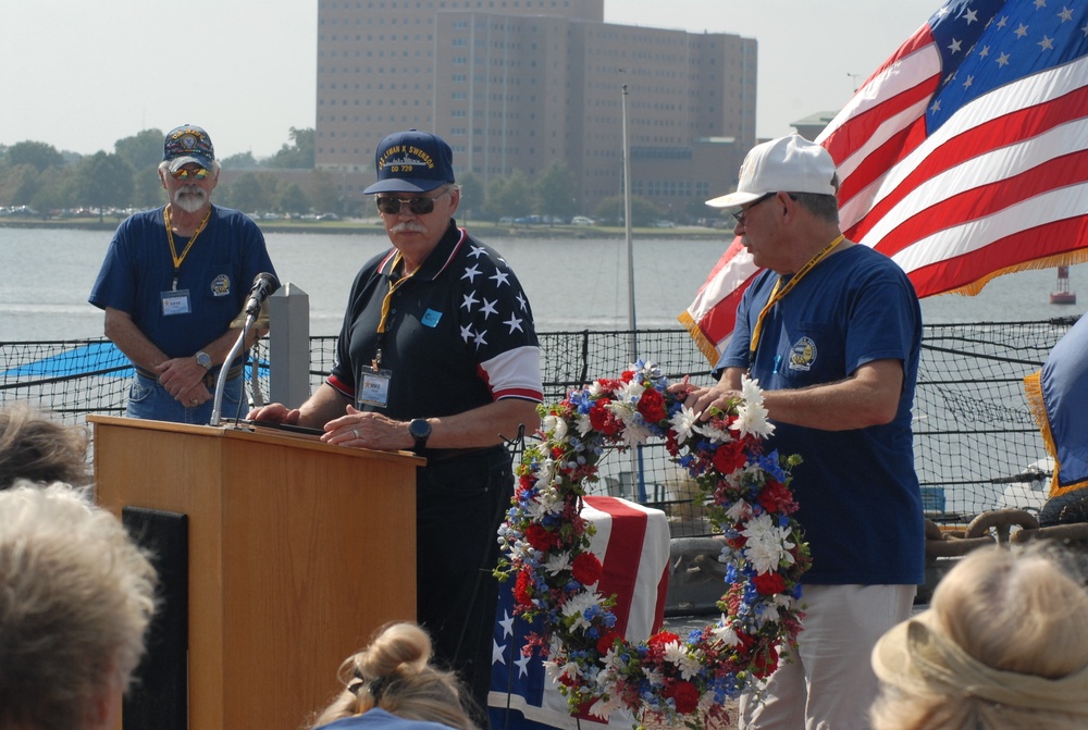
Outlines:
<svg viewBox="0 0 1088 730"><path fill-rule="evenodd" d="M759 44L756 131L837 110L941 0L605 0L605 21ZM667 10L666 10L667 9ZM261 158L314 125L316 0L12 0L0 12L0 144L84 154L205 126Z"/></svg>

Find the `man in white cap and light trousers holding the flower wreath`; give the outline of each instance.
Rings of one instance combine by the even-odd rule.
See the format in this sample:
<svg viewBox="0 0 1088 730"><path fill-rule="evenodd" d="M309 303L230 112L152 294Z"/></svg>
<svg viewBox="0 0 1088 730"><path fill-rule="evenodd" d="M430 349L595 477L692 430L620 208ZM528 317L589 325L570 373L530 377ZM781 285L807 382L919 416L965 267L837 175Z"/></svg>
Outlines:
<svg viewBox="0 0 1088 730"><path fill-rule="evenodd" d="M725 408L742 374L758 381L768 447L804 459L793 488L813 556L799 651L742 697L742 728L868 727L869 653L924 580L911 432L922 311L894 262L839 231L837 191L827 150L792 135L753 148L737 191L707 201L731 210L765 271L738 307L718 383L688 405Z"/></svg>

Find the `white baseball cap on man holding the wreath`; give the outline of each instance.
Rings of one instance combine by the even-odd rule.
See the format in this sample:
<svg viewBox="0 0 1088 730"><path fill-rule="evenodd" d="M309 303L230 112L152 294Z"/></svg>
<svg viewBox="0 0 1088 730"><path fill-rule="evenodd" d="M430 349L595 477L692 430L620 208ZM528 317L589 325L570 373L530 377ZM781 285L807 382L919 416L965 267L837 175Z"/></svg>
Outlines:
<svg viewBox="0 0 1088 730"><path fill-rule="evenodd" d="M801 135L765 141L744 156L737 191L707 200L713 208L739 208L768 193L834 195L834 160Z"/></svg>

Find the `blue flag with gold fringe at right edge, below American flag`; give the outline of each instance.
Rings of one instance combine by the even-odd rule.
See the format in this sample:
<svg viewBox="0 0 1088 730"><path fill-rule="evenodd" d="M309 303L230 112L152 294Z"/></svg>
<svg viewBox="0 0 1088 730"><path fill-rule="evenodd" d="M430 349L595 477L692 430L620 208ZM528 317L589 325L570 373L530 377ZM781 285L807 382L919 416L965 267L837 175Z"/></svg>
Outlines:
<svg viewBox="0 0 1088 730"><path fill-rule="evenodd" d="M1024 389L1054 457L1050 496L1088 487L1088 317L1058 341L1042 370L1024 379Z"/></svg>

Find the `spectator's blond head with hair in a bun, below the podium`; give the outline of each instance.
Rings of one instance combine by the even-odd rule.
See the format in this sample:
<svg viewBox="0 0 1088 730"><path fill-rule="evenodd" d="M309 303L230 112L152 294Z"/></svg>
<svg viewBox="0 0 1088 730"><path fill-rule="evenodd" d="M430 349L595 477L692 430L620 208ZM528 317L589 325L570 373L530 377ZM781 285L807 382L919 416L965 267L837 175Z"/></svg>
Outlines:
<svg viewBox="0 0 1088 730"><path fill-rule="evenodd" d="M431 665L431 638L415 623L391 623L341 665L346 689L313 727L380 708L408 720L475 730L457 676Z"/></svg>

